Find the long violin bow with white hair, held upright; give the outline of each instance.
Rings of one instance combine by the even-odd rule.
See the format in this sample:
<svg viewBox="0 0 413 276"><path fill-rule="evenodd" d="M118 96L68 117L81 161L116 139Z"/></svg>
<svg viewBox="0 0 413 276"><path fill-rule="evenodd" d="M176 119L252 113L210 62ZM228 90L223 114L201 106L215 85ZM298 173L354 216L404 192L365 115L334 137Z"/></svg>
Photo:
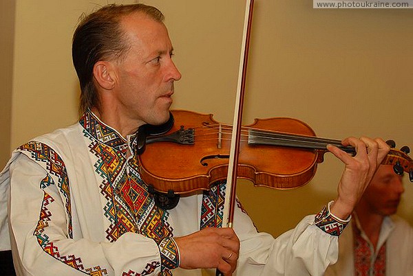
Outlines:
<svg viewBox="0 0 413 276"><path fill-rule="evenodd" d="M224 214L222 217L223 227L233 227L233 215L236 200L237 165L240 154L240 140L242 127L242 109L244 105L246 69L248 62L248 47L253 19L254 0L247 0L244 17L244 32L242 35L242 47L240 56L240 71L238 73L237 97L235 99L235 110L233 118L233 130L231 136L231 148L229 153L228 174L226 176L226 191L224 201ZM223 275L217 270L217 276Z"/></svg>

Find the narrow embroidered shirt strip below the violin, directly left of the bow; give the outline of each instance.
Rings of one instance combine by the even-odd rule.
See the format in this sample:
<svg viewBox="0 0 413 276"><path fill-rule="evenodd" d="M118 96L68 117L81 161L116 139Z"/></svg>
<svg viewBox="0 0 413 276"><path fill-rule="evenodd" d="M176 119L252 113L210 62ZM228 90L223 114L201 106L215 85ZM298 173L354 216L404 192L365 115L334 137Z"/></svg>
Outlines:
<svg viewBox="0 0 413 276"><path fill-rule="evenodd" d="M202 196L200 229L221 227L224 216L226 181L216 183Z"/></svg>

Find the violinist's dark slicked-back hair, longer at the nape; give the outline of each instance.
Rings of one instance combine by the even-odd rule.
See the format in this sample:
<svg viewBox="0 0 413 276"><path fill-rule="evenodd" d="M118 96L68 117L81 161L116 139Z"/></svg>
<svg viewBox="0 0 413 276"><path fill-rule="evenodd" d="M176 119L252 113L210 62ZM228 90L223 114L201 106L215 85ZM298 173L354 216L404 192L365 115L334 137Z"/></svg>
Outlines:
<svg viewBox="0 0 413 276"><path fill-rule="evenodd" d="M120 21L136 12L162 22L164 15L150 5L105 5L85 16L78 24L72 41L72 60L81 84L80 112L99 106L93 81L93 67L99 60L118 60L129 50Z"/></svg>

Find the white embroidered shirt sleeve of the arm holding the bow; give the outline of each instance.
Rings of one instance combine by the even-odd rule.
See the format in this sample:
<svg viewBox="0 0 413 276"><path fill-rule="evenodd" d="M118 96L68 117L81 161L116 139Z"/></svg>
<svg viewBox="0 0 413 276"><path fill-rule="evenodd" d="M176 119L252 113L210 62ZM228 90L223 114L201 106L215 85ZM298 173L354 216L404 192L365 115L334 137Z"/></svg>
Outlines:
<svg viewBox="0 0 413 276"><path fill-rule="evenodd" d="M173 268L165 256L179 264L177 255L165 253L172 239L158 245L137 233L115 242L72 238L67 191L52 172L24 154L10 165L10 240L18 275L158 275Z"/></svg>

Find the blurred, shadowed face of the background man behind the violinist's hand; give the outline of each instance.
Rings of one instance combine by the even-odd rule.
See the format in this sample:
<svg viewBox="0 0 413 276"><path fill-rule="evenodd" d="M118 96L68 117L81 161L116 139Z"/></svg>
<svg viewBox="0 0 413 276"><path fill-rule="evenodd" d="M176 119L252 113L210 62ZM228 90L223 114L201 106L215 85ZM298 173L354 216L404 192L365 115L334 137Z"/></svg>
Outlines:
<svg viewBox="0 0 413 276"><path fill-rule="evenodd" d="M370 211L381 216L395 214L401 194L404 192L402 176L397 175L392 165L380 165L373 179L364 192Z"/></svg>

